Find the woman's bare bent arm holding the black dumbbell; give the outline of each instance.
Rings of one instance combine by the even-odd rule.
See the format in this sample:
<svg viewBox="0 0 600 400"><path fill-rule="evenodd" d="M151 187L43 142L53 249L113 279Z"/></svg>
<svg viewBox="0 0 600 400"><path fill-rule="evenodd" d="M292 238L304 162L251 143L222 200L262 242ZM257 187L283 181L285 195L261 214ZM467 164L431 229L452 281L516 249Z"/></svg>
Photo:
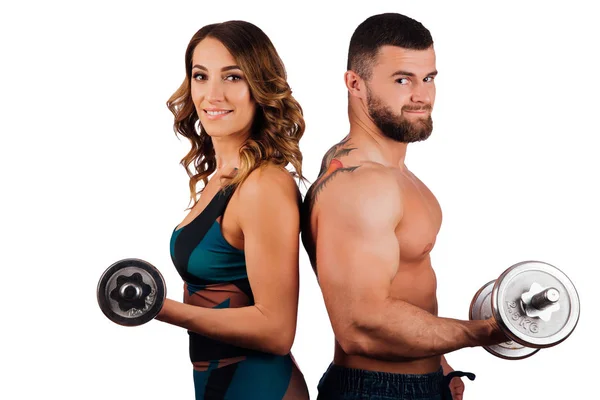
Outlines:
<svg viewBox="0 0 600 400"><path fill-rule="evenodd" d="M297 187L275 166L253 171L234 196L255 304L212 309L167 299L158 320L229 344L288 354L296 332L300 218Z"/></svg>

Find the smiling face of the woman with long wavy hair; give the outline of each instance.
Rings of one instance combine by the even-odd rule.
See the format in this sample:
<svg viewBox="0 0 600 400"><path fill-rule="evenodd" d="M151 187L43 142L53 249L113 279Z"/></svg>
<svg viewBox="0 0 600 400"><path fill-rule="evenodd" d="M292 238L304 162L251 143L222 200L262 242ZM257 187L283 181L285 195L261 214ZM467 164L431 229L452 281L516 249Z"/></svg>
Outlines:
<svg viewBox="0 0 600 400"><path fill-rule="evenodd" d="M205 38L194 49L191 93L208 135L217 138L250 134L256 103L244 73L217 39Z"/></svg>

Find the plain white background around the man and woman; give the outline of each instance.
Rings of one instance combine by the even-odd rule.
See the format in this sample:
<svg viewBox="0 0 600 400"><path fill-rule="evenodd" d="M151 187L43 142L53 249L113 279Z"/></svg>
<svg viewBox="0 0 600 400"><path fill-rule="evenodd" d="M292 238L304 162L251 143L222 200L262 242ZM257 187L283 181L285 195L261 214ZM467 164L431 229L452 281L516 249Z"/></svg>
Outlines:
<svg viewBox="0 0 600 400"><path fill-rule="evenodd" d="M565 271L582 301L572 336L526 360L481 348L449 354L454 368L477 374L465 399L598 391L600 30L587 8L593 2L301 4L1 6L0 398L193 398L185 331L158 321L118 326L95 297L111 263L139 257L160 268L169 297L181 298L168 243L187 206L178 162L188 143L175 137L165 102L183 80L189 39L230 19L270 36L304 108L304 171L313 181L323 153L348 131L350 36L368 16L388 11L423 22L438 57L434 133L409 147L407 164L444 211L432 255L440 315L467 318L477 289L530 259ZM332 350L302 251L292 352L311 398Z"/></svg>

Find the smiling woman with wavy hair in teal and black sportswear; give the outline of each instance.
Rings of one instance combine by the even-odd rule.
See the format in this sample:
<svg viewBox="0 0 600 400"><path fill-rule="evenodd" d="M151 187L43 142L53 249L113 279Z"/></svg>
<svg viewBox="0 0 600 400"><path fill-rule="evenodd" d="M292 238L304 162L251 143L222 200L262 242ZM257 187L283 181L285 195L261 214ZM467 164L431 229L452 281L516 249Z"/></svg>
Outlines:
<svg viewBox="0 0 600 400"><path fill-rule="evenodd" d="M302 109L273 44L248 22L200 29L185 68L167 102L192 144L181 161L192 207L171 237L184 302L166 300L157 319L188 330L196 399L308 399L290 354Z"/></svg>

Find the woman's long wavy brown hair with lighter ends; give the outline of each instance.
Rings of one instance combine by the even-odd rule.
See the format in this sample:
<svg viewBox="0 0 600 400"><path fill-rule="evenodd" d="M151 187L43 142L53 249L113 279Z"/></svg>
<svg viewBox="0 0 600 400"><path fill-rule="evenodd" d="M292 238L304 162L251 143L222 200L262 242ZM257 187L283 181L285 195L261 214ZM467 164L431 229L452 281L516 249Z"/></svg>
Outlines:
<svg viewBox="0 0 600 400"><path fill-rule="evenodd" d="M206 187L217 162L211 137L203 129L191 97L192 55L203 39L219 40L235 58L246 76L257 110L249 138L240 148L237 174L228 176L228 185L241 184L248 175L266 163L284 168L291 164L290 173L302 175L302 153L299 141L305 123L302 108L292 96L285 66L269 37L257 26L245 21L227 21L202 27L194 34L185 52L185 79L167 101L175 116L175 134L186 137L192 148L181 159L190 177L190 202L193 207ZM198 183L203 187L197 190Z"/></svg>

